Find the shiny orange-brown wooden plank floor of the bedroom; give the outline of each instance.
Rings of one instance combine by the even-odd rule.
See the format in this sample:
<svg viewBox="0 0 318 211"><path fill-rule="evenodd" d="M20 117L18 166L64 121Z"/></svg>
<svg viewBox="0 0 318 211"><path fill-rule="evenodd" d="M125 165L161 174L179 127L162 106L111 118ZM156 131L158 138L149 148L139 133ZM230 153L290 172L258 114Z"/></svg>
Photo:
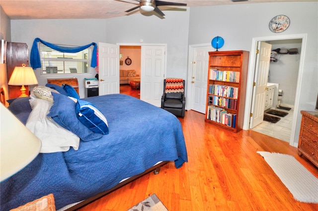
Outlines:
<svg viewBox="0 0 318 211"><path fill-rule="evenodd" d="M156 194L169 211L318 211L296 201L257 151L293 155L318 177L318 168L288 142L252 130L232 133L186 111L179 118L189 162L149 173L80 211L126 211ZM129 170L129 169L128 169Z"/></svg>

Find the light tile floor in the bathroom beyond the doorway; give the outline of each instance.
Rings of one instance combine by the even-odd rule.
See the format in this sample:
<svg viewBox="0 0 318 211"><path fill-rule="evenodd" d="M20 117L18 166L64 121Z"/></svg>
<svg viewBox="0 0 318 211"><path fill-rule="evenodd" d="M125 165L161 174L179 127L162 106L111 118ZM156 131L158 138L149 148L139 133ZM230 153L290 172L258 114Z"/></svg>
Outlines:
<svg viewBox="0 0 318 211"><path fill-rule="evenodd" d="M286 106L286 107L290 107L290 106ZM289 142L294 109L293 108L291 110L283 110L279 108L275 108L275 109L288 112L288 115L286 115L285 117L279 116L281 119L277 123L263 121L259 125L252 128L252 130Z"/></svg>

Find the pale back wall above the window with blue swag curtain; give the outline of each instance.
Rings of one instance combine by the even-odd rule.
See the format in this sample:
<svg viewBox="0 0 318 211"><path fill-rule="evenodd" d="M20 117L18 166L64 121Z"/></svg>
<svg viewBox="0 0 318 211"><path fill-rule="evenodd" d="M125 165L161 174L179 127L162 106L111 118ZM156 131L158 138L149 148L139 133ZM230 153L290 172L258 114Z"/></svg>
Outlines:
<svg viewBox="0 0 318 211"><path fill-rule="evenodd" d="M164 11L166 18L134 14L112 19L45 19L11 20L12 42L24 42L31 51L33 40L39 37L54 44L85 45L105 43L167 43L167 76L186 78L189 11ZM175 27L175 26L178 27ZM39 85L46 84L46 77L35 71ZM79 95L84 97L83 78L79 80ZM56 77L55 77L56 78Z"/></svg>

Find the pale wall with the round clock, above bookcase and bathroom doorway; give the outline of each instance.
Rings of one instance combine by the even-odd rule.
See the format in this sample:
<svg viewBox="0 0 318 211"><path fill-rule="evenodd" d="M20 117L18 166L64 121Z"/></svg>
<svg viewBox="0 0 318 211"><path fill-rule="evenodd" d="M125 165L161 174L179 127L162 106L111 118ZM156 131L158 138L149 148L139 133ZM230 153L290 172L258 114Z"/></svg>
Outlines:
<svg viewBox="0 0 318 211"><path fill-rule="evenodd" d="M281 33L268 29L270 19L287 15L291 24ZM258 37L308 34L299 110L314 110L318 93L318 2L273 2L193 7L190 11L189 44L208 43L215 36L225 40L219 50L252 51ZM251 57L251 55L250 55ZM253 67L249 67L252 74ZM247 98L248 99L248 98ZM298 115L294 142L298 142L301 115Z"/></svg>

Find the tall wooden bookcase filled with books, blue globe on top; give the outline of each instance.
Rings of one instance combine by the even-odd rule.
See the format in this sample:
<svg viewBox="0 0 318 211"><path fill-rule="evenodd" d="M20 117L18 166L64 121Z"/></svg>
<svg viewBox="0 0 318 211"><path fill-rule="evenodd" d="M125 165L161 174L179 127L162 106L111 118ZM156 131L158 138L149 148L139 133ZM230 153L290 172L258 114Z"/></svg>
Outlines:
<svg viewBox="0 0 318 211"><path fill-rule="evenodd" d="M205 121L238 132L243 127L248 51L209 52Z"/></svg>

